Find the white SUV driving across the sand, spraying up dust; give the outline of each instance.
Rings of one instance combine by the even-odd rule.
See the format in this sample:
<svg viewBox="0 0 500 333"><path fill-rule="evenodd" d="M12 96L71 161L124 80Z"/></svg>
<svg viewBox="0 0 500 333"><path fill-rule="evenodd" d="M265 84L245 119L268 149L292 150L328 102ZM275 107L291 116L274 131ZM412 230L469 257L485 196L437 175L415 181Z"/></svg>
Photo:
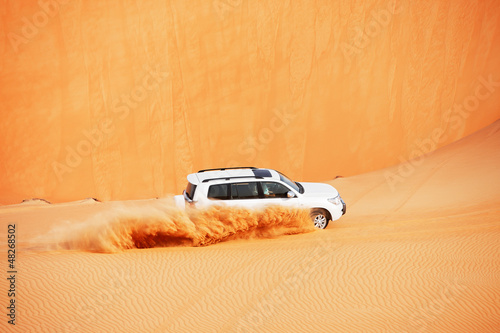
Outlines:
<svg viewBox="0 0 500 333"><path fill-rule="evenodd" d="M346 205L331 185L299 183L272 169L237 167L206 169L187 176L183 195L176 195L180 207L197 208L224 203L248 208L281 205L311 209L316 228L324 229L339 219Z"/></svg>

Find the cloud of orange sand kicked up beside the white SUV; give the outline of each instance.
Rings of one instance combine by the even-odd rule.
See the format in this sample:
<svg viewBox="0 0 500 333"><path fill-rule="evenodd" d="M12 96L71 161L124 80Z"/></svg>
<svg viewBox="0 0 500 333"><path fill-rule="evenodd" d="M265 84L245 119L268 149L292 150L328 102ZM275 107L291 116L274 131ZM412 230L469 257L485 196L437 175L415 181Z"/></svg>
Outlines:
<svg viewBox="0 0 500 333"><path fill-rule="evenodd" d="M183 211L165 202L121 205L85 221L66 221L34 240L49 249L116 253L127 249L207 246L231 239L272 238L315 230L307 210L212 207Z"/></svg>

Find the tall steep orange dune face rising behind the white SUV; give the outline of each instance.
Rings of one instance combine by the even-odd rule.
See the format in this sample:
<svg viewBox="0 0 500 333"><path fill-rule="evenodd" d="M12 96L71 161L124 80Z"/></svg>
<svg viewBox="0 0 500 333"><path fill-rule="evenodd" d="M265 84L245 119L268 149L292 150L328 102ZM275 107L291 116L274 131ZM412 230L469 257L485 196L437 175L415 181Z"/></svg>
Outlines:
<svg viewBox="0 0 500 333"><path fill-rule="evenodd" d="M257 165L312 181L500 117L498 0L3 1L0 203L179 193Z"/></svg>

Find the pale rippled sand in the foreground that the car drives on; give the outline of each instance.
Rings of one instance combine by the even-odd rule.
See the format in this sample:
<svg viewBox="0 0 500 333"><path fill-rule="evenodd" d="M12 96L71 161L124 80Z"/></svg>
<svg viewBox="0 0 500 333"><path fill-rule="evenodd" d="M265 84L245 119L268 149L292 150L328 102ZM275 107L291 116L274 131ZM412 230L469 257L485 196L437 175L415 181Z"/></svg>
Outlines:
<svg viewBox="0 0 500 333"><path fill-rule="evenodd" d="M47 247L81 240L67 227L82 221L95 236L113 217L154 217L167 199L1 207L21 249L16 329L498 332L498 165L500 121L408 165L332 181L348 214L326 230L208 247Z"/></svg>

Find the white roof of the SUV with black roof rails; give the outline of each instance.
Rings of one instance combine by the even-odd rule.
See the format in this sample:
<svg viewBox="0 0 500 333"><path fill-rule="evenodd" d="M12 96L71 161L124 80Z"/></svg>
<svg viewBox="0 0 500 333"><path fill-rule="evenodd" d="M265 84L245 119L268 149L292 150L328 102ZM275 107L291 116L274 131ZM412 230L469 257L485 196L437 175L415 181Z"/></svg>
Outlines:
<svg viewBox="0 0 500 333"><path fill-rule="evenodd" d="M244 181L255 179L273 179L279 180L280 176L276 170L273 169L259 169L259 168L225 168L217 170L201 170L197 173L192 173L187 176L187 179L193 185L209 181L226 182L229 180Z"/></svg>

